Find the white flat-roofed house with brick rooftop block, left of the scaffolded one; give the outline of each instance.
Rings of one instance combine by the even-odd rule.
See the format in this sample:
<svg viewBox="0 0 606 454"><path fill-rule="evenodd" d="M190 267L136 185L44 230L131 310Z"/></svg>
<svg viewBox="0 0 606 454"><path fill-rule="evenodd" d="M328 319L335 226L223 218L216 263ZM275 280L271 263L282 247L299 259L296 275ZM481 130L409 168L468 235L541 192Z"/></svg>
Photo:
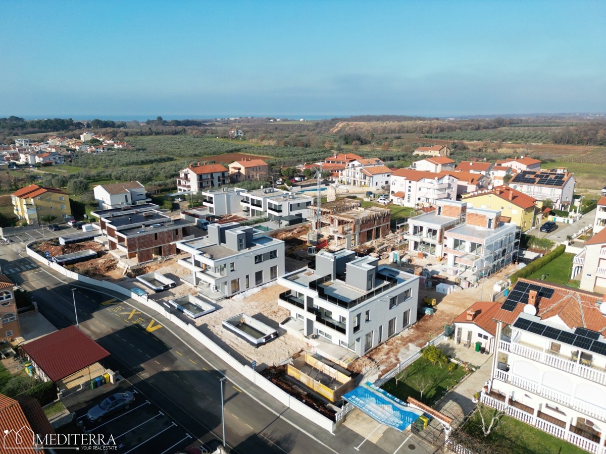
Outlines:
<svg viewBox="0 0 606 454"><path fill-rule="evenodd" d="M438 200L436 209L408 219L408 251L443 257L444 232L465 222L467 203L458 200Z"/></svg>

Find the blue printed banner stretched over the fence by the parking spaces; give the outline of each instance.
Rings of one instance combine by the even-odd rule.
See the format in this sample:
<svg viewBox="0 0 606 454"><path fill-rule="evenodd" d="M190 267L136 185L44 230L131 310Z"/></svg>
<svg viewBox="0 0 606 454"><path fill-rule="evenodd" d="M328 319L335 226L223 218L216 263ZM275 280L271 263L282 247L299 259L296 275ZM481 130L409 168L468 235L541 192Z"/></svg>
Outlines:
<svg viewBox="0 0 606 454"><path fill-rule="evenodd" d="M368 382L343 398L379 423L401 431L408 429L423 414L421 410L408 407L404 401Z"/></svg>

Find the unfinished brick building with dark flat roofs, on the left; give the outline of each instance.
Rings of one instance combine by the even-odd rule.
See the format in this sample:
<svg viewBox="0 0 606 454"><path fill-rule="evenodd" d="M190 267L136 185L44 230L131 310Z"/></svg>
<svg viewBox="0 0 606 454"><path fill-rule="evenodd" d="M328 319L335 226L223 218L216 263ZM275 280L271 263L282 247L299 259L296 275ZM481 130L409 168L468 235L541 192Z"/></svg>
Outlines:
<svg viewBox="0 0 606 454"><path fill-rule="evenodd" d="M142 203L93 211L97 228L107 238L107 246L125 265L136 266L177 253L175 242L191 239L196 223L172 219L158 211L158 205Z"/></svg>

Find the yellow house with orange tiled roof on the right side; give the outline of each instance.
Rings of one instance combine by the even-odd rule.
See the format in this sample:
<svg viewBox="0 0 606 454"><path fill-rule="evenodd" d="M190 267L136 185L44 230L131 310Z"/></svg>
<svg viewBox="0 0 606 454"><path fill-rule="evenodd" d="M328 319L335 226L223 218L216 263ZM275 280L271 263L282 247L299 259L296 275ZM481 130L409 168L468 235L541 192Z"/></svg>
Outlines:
<svg viewBox="0 0 606 454"><path fill-rule="evenodd" d="M509 186L496 186L493 189L467 192L461 199L473 208L488 208L501 211L501 215L510 217L522 232L540 223L540 211L533 197L516 191Z"/></svg>

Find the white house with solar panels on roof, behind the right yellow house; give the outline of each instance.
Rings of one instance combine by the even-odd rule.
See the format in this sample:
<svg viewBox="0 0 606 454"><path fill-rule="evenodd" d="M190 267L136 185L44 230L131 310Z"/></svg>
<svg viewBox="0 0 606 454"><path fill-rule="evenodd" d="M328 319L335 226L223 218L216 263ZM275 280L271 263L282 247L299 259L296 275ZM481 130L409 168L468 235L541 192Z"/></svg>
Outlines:
<svg viewBox="0 0 606 454"><path fill-rule="evenodd" d="M509 185L537 200L551 200L554 208L570 206L574 196L574 176L558 171L522 171Z"/></svg>

